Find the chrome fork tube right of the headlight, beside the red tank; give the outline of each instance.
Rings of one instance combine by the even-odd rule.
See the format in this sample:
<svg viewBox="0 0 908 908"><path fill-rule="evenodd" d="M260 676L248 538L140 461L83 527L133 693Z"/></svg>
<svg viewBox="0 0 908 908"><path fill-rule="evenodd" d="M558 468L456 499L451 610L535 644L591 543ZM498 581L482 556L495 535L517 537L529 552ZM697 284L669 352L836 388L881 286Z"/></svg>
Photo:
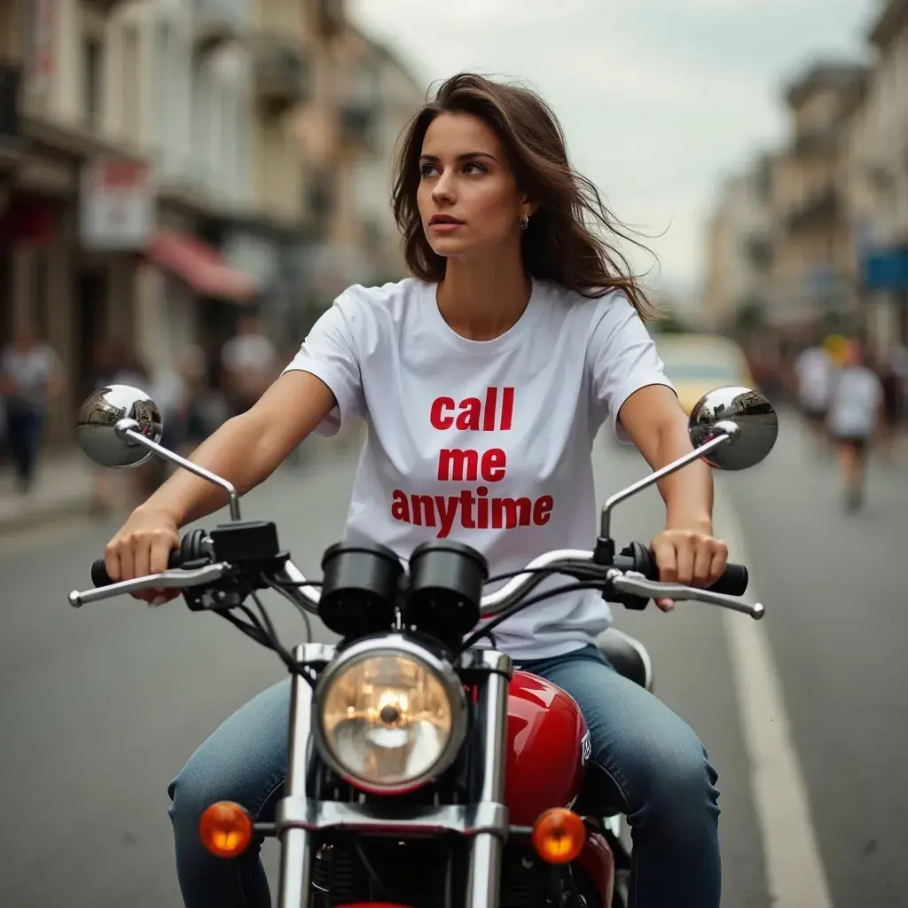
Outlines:
<svg viewBox="0 0 908 908"><path fill-rule="evenodd" d="M491 673L479 688L476 720L481 753L479 802L504 804L508 735L508 676L510 658L495 650L481 650L476 659ZM498 908L504 840L493 833L473 838L469 854L467 904L469 908Z"/></svg>

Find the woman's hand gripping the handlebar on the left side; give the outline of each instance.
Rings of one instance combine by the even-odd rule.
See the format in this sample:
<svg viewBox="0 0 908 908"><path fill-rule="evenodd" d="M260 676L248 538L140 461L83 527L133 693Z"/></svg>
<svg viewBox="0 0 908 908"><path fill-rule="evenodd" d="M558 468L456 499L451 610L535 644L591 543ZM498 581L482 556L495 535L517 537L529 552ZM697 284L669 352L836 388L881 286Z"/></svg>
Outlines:
<svg viewBox="0 0 908 908"><path fill-rule="evenodd" d="M167 569L170 553L180 547L176 521L158 508L140 505L104 548L104 567L110 578L132 580ZM148 589L133 597L159 605L180 595L179 589Z"/></svg>

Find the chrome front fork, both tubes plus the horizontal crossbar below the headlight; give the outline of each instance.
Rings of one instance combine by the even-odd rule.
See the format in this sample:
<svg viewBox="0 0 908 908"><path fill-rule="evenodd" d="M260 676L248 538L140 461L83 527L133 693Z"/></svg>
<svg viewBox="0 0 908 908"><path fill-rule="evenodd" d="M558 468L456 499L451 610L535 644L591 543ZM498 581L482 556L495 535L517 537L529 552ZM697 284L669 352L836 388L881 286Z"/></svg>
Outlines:
<svg viewBox="0 0 908 908"><path fill-rule="evenodd" d="M306 643L297 646L293 655L301 663L328 662L334 651L331 644ZM466 903L470 908L498 908L501 862L509 831L504 797L512 664L510 657L498 650L472 649L460 657L459 667L479 669L485 676L478 687L473 730L478 740L474 746L481 752L479 797L473 804L416 808L406 818L389 814L374 802L322 801L308 790L314 691L304 677L292 676L286 795L278 804L274 823L274 834L281 842L278 908L308 906L316 834L340 827L382 834L449 832L469 838Z"/></svg>

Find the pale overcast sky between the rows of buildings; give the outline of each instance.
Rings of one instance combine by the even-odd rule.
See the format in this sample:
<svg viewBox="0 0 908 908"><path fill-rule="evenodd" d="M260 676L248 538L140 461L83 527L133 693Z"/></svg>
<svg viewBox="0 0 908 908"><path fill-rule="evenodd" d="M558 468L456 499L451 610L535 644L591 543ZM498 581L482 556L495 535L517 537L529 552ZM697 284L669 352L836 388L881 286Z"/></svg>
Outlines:
<svg viewBox="0 0 908 908"><path fill-rule="evenodd" d="M696 298L724 176L785 141L781 86L817 57L868 58L883 0L349 0L426 85L526 79L580 170L648 234L647 278ZM640 270L653 262L637 258Z"/></svg>

